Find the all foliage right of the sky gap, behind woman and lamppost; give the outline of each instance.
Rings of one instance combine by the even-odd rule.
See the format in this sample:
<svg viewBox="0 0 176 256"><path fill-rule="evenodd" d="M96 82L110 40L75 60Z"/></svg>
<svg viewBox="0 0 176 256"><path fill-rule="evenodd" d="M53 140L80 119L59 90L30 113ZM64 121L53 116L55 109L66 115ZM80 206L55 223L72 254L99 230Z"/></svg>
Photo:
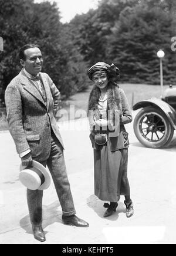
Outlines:
<svg viewBox="0 0 176 256"><path fill-rule="evenodd" d="M97 61L117 63L120 81L160 83L157 51L165 51L164 83L176 83L176 54L171 38L176 36L174 0L102 0L96 11L70 22L89 65ZM85 47L86 45L86 47Z"/></svg>

